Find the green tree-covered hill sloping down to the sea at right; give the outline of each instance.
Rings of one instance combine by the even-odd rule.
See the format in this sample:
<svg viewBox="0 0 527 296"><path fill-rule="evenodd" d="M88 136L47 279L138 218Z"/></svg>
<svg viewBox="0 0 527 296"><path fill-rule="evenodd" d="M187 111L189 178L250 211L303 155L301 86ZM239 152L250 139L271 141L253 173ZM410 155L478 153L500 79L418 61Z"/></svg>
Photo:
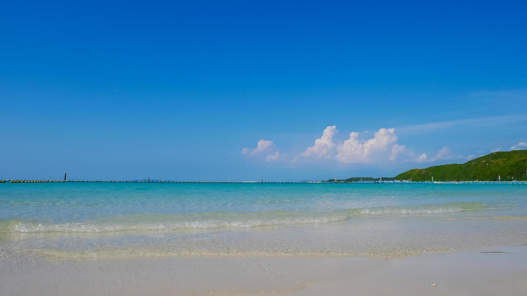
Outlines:
<svg viewBox="0 0 527 296"><path fill-rule="evenodd" d="M397 180L430 181L502 181L527 180L527 150L501 151L472 159L464 164L433 166L408 170L395 176Z"/></svg>

